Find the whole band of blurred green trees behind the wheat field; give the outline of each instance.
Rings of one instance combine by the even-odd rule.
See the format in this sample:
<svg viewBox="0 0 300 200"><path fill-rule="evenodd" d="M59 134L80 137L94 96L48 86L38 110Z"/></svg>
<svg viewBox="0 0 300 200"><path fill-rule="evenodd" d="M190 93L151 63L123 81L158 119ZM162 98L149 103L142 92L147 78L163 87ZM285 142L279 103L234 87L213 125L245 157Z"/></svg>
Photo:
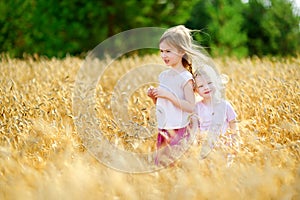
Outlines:
<svg viewBox="0 0 300 200"><path fill-rule="evenodd" d="M212 56L299 54L289 0L0 0L0 52L82 56L119 32L184 24Z"/></svg>

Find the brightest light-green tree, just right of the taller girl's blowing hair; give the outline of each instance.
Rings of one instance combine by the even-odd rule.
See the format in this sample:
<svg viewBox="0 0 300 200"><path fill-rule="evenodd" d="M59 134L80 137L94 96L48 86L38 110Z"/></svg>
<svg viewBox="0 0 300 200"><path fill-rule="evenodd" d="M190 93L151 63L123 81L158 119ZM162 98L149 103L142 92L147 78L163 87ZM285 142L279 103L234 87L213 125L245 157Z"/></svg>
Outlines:
<svg viewBox="0 0 300 200"><path fill-rule="evenodd" d="M211 44L214 55L246 56L243 4L236 0L215 0L209 4L208 11L212 18L208 27L214 39Z"/></svg>

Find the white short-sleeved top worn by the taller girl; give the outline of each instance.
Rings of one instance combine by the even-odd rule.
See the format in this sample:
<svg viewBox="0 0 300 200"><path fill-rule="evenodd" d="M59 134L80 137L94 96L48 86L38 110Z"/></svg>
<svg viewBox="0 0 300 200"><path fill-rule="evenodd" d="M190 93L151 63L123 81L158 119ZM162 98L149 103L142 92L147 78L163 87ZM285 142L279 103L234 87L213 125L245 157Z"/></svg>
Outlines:
<svg viewBox="0 0 300 200"><path fill-rule="evenodd" d="M159 87L173 93L178 99L185 99L184 86L193 76L188 71L181 73L174 69L163 71L159 77ZM186 127L189 123L188 112L176 107L171 101L164 98L157 98L156 118L159 129L178 129Z"/></svg>

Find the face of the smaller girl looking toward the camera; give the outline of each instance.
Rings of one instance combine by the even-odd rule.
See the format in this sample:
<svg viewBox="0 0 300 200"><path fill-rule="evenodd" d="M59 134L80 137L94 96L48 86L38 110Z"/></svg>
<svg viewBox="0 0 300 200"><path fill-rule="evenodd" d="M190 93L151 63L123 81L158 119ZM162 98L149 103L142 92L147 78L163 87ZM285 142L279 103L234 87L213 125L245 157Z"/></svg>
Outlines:
<svg viewBox="0 0 300 200"><path fill-rule="evenodd" d="M196 91L204 99L209 99L213 96L216 88L211 79L207 76L196 76Z"/></svg>

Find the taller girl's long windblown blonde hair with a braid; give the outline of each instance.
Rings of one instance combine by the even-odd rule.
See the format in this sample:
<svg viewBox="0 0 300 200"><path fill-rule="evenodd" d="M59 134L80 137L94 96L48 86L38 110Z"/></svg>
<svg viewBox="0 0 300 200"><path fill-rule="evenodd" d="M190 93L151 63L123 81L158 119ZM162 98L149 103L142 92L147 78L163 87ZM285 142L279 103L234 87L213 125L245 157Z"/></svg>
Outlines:
<svg viewBox="0 0 300 200"><path fill-rule="evenodd" d="M190 30L183 25L178 25L166 30L159 41L159 43L165 41L177 50L185 52L182 57L182 64L193 75L192 66L213 65L204 48L193 40L192 32L195 31L198 30Z"/></svg>

